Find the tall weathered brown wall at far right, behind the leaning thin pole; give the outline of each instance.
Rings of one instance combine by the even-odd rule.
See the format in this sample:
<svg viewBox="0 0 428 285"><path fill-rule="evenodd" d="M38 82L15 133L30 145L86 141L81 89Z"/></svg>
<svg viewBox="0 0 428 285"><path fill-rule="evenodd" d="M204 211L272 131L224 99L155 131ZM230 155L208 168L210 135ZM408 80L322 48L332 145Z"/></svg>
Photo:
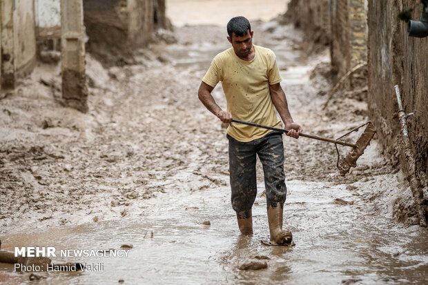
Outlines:
<svg viewBox="0 0 428 285"><path fill-rule="evenodd" d="M398 104L393 86L398 84L409 117L409 137L416 158L416 173L428 186L428 37L407 37L407 23L398 12L413 8L419 20L422 5L411 0L369 1L369 114L385 153L402 161ZM407 168L403 168L407 173ZM409 173L407 173L409 174Z"/></svg>

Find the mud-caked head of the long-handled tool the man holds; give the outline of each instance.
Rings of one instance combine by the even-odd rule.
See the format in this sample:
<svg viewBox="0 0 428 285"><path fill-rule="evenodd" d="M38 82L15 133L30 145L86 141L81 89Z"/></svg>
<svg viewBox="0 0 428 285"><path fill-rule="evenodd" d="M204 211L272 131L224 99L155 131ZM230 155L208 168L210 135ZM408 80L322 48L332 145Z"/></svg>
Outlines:
<svg viewBox="0 0 428 285"><path fill-rule="evenodd" d="M352 150L349 151L349 153L338 163L340 175L346 175L347 173L349 173L351 167L357 166L358 157L360 157L364 153L364 150L370 144L370 141L375 133L376 128L374 127L373 123L369 121L364 132L362 132L361 137L357 140L355 144L356 146L352 148Z"/></svg>

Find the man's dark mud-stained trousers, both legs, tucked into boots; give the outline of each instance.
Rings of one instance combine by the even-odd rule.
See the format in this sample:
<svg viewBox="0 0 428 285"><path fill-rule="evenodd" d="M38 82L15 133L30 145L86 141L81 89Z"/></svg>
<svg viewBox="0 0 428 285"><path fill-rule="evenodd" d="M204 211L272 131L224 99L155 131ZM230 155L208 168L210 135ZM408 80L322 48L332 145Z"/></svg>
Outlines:
<svg viewBox="0 0 428 285"><path fill-rule="evenodd" d="M227 138L231 200L237 219L251 217L251 208L257 195L256 155L263 166L267 208L276 208L278 204L282 208L286 198L282 134L269 132L264 137L249 142L237 141L229 135Z"/></svg>

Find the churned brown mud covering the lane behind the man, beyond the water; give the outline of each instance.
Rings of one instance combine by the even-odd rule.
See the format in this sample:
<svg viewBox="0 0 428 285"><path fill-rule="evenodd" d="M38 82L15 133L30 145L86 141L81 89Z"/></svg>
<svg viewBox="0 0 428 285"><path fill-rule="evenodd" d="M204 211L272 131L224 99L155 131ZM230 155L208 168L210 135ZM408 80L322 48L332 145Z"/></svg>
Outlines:
<svg viewBox="0 0 428 285"><path fill-rule="evenodd" d="M364 93L335 95L327 111L321 110L331 88L326 52L302 57L297 32L275 25L260 23L258 35L255 27L255 43L277 48L291 114L304 131L335 138L367 121ZM208 41L203 37L207 34L212 35ZM225 32L215 26L187 26L176 36L179 43L169 53L154 47L162 53L159 57L140 50L142 64L135 66L105 70L88 55L88 114L61 106L59 66L40 64L17 90L3 95L2 233L138 215L137 205L177 183L179 170L193 173L179 187L199 190L226 183L225 130L197 99L210 59L227 48ZM293 45L293 55L281 54L284 42ZM221 86L214 94L225 106ZM364 182L390 188L381 187L382 181L396 181L405 188L396 170L376 153L376 140L345 178L335 168L333 144L307 138L285 141L287 179L333 181L349 188ZM384 195L373 191L361 196L371 201Z"/></svg>

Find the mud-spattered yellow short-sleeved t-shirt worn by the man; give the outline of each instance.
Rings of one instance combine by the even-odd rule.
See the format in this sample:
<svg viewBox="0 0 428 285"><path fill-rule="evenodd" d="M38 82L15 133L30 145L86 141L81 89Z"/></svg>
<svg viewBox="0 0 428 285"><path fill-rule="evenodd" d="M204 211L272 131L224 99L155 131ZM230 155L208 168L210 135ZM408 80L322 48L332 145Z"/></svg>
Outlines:
<svg viewBox="0 0 428 285"><path fill-rule="evenodd" d="M280 127L271 99L269 84L282 81L275 54L269 48L254 46L255 56L251 61L237 57L233 48L216 55L208 68L204 81L215 87L222 81L228 112L233 119L255 124ZM233 123L228 135L237 141L260 139L271 130Z"/></svg>

